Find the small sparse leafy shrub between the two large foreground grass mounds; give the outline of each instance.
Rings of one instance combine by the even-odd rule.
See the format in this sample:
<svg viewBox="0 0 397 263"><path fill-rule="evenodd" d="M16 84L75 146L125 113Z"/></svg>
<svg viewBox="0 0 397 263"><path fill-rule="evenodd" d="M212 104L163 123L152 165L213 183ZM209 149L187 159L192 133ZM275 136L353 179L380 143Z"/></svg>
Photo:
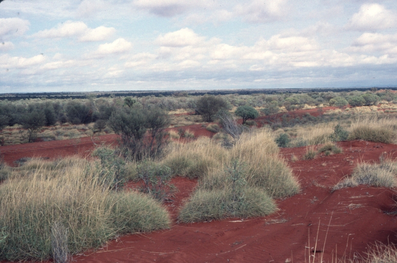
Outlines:
<svg viewBox="0 0 397 263"><path fill-rule="evenodd" d="M143 182L140 188L142 192L150 194L159 201L165 201L171 196L174 186L170 184L172 173L169 167L152 161L143 161L137 169L138 178Z"/></svg>

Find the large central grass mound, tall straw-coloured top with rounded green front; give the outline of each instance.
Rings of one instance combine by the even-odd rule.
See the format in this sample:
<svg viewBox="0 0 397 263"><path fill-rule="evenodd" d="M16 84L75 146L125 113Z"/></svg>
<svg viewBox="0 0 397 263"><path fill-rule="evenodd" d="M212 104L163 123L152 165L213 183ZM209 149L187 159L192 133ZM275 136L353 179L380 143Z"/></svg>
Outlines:
<svg viewBox="0 0 397 263"><path fill-rule="evenodd" d="M180 211L180 221L263 216L276 208L271 197L298 193L298 181L278 157L271 131L243 133L231 149L208 143L222 158L201 174L198 188Z"/></svg>

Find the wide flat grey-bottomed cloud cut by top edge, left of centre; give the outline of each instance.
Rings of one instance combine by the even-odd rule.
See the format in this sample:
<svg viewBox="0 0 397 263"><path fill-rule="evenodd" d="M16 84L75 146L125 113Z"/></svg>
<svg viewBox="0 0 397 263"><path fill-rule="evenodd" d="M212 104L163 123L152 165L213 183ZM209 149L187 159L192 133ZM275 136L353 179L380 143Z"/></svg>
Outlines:
<svg viewBox="0 0 397 263"><path fill-rule="evenodd" d="M173 17L190 9L209 6L209 0L186 1L186 0L135 0L134 6L138 9L148 10L160 17Z"/></svg>

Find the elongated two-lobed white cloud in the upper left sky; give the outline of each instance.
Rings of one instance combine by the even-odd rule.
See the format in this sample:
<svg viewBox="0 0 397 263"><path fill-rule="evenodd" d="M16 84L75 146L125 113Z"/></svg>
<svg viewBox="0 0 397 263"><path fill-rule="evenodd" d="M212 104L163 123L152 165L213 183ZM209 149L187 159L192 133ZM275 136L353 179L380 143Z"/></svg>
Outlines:
<svg viewBox="0 0 397 263"><path fill-rule="evenodd" d="M57 27L46 29L33 34L35 38L71 38L77 37L81 42L101 41L110 38L116 30L113 27L99 26L89 28L83 22L67 21Z"/></svg>

